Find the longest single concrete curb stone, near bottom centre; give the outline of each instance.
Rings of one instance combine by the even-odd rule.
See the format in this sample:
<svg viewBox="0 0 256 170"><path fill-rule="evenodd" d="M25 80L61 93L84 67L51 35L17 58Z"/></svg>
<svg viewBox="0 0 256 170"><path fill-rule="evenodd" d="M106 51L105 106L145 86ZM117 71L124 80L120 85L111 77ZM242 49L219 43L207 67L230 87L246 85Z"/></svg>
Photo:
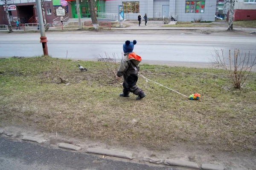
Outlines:
<svg viewBox="0 0 256 170"><path fill-rule="evenodd" d="M86 150L86 152L97 153L97 154L108 155L108 156L115 156L115 157L119 157L119 158L133 159L131 153L119 152L119 151L115 151L115 150L108 150L108 149L102 149L102 148L89 147Z"/></svg>

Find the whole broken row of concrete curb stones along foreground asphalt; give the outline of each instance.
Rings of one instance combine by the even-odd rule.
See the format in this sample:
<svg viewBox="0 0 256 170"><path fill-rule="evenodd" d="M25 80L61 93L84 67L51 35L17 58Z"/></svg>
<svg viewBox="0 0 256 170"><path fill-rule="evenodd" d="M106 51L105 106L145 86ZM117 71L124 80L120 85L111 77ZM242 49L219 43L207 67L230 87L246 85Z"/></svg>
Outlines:
<svg viewBox="0 0 256 170"><path fill-rule="evenodd" d="M47 139L43 139L42 135L28 135L27 133L19 133L19 134L12 134L9 132L6 132L2 129L0 129L0 135L6 135L6 137L8 136L9 138L20 138L23 141L32 141L32 142L37 142L39 144L44 143L44 142L50 142L51 139L47 138ZM64 149L69 149L69 150L81 150L82 147L73 145L73 144L69 144L69 143L58 143L57 144L58 147L60 148L64 148ZM79 144L78 144L79 145ZM85 146L83 146L85 147ZM81 153L83 153L83 150L80 151ZM109 150L109 149L103 149L103 148L96 148L96 147L88 147L87 150L85 151L86 153L96 153L96 154L101 154L101 155L107 155L107 156L115 156L118 158L125 158L125 159L133 159L133 153L130 152L120 152L120 151L116 151L116 150ZM181 160L181 159L177 159L177 158L173 158L173 159L161 159L161 158L150 158L150 157L143 157L143 159L141 157L138 157L136 155L134 155L138 161L138 163L140 163L141 161L144 162L149 162L152 164L165 164L165 165L171 165L171 166L180 166L180 167L188 167L188 168L195 168L195 169L204 169L204 170L224 170L225 167L222 165L218 165L218 164L210 164L210 163L203 163L203 164L197 164L195 162L192 161L186 161L186 160ZM104 156L102 157L104 158ZM201 166L200 166L201 165Z"/></svg>

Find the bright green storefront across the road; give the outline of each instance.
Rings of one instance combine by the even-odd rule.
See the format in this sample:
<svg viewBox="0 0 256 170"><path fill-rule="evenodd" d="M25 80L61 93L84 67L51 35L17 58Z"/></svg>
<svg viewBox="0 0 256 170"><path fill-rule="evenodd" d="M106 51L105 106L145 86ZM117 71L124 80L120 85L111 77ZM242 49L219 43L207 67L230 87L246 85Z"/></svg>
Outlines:
<svg viewBox="0 0 256 170"><path fill-rule="evenodd" d="M52 0L53 6L57 8L58 6L61 6L61 0ZM88 0L79 0L79 6L80 6L80 17L90 17L90 9L89 9L89 3ZM77 9L76 9L76 0L67 0L68 6L71 5L72 9L72 18L78 18L77 15ZM103 12L105 13L105 0L93 0L94 2L94 10L95 12ZM69 11L70 13L70 11Z"/></svg>

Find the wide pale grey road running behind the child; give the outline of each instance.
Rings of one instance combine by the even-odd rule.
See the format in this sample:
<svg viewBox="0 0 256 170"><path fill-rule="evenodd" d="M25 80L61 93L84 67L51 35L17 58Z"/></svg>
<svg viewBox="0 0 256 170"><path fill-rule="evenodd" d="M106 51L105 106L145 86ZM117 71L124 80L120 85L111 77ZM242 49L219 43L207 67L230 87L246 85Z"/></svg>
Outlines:
<svg viewBox="0 0 256 170"><path fill-rule="evenodd" d="M0 34L0 57L42 55L39 33ZM208 63L214 50L240 49L256 56L255 36L186 34L120 34L95 32L47 32L48 51L52 57L93 59L105 52L122 54L125 40L137 40L134 52L148 61Z"/></svg>

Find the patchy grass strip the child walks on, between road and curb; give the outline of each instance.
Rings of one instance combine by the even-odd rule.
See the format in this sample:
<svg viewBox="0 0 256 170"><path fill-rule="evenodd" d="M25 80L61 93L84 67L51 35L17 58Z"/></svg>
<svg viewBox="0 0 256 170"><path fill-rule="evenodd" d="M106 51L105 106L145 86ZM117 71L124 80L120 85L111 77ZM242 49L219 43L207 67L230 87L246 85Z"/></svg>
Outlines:
<svg viewBox="0 0 256 170"><path fill-rule="evenodd" d="M78 64L88 69L80 72ZM64 66L65 65L65 66ZM49 77L58 66L69 85ZM119 97L122 85L101 72L103 62L50 57L0 60L0 125L36 127L122 145L151 149L183 142L219 150L252 151L256 133L256 74L242 90L220 69L141 65L140 73L189 99L139 78L147 94Z"/></svg>

